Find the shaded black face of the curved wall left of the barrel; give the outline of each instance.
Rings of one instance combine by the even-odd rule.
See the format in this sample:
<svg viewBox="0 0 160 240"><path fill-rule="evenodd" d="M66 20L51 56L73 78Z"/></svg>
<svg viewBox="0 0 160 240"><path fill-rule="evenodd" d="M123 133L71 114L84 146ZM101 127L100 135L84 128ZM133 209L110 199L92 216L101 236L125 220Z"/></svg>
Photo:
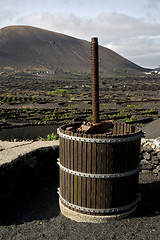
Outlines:
<svg viewBox="0 0 160 240"><path fill-rule="evenodd" d="M0 166L0 211L44 181L58 178L59 147L36 149Z"/></svg>

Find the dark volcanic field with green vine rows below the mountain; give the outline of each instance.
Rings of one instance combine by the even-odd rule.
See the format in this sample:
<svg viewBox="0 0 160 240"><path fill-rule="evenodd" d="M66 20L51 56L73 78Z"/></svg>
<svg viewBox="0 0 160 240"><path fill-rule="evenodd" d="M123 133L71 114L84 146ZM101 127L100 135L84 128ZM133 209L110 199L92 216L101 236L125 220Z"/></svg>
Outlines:
<svg viewBox="0 0 160 240"><path fill-rule="evenodd" d="M68 121L92 121L88 73L5 68L0 82L1 140L47 138ZM101 121L144 126L160 117L160 75L100 76L99 88Z"/></svg>

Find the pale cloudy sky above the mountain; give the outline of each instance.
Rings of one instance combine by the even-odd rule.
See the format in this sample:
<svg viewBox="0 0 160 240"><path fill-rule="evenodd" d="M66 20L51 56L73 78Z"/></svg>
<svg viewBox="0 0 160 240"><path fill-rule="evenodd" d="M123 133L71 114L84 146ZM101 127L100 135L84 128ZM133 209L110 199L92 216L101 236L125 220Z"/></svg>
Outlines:
<svg viewBox="0 0 160 240"><path fill-rule="evenodd" d="M0 0L0 28L10 25L98 37L142 67L160 65L160 0Z"/></svg>

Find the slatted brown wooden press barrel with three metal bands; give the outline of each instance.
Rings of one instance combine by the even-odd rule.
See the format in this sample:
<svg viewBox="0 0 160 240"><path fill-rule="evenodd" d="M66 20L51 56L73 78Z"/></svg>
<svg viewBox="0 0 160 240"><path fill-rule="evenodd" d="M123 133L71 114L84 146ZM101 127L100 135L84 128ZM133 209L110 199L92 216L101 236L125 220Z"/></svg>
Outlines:
<svg viewBox="0 0 160 240"><path fill-rule="evenodd" d="M66 130L80 125L64 125L58 129L62 213L77 221L87 216L86 221L90 221L92 216L104 219L132 211L140 200L142 131L122 122L114 122L112 135L77 134Z"/></svg>

